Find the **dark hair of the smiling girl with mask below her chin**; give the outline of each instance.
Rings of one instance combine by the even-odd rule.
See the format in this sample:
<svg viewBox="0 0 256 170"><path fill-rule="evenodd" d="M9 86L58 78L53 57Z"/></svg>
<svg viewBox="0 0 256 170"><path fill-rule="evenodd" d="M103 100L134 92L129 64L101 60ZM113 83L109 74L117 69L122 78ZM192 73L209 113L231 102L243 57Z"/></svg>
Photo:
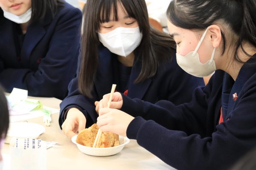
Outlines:
<svg viewBox="0 0 256 170"><path fill-rule="evenodd" d="M44 19L49 13L54 17L58 6L62 4L63 0L32 0L32 16L30 23Z"/></svg>

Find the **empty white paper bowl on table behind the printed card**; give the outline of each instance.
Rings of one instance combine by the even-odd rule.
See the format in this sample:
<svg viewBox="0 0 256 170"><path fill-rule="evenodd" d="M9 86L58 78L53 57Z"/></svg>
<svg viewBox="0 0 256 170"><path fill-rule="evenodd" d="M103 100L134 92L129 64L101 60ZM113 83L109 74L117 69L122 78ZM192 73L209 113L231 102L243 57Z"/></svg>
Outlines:
<svg viewBox="0 0 256 170"><path fill-rule="evenodd" d="M37 139L44 131L44 126L36 123L13 122L9 124L5 143L10 143L13 137Z"/></svg>

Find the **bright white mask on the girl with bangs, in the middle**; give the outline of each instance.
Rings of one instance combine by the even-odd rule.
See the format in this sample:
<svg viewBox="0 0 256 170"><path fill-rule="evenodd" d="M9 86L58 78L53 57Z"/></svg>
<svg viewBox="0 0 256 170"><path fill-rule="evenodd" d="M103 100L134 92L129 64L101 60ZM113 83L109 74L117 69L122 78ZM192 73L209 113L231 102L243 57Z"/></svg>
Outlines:
<svg viewBox="0 0 256 170"><path fill-rule="evenodd" d="M98 33L99 41L114 54L126 57L140 45L140 28L119 27L106 34Z"/></svg>

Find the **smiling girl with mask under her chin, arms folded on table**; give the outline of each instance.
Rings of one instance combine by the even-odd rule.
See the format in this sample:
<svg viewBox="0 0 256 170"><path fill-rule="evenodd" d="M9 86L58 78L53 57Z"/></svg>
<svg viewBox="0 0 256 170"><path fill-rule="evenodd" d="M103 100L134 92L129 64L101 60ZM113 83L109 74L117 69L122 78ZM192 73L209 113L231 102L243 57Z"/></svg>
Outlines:
<svg viewBox="0 0 256 170"><path fill-rule="evenodd" d="M0 6L0 83L7 92L63 99L76 74L81 11L62 0L2 0Z"/></svg>

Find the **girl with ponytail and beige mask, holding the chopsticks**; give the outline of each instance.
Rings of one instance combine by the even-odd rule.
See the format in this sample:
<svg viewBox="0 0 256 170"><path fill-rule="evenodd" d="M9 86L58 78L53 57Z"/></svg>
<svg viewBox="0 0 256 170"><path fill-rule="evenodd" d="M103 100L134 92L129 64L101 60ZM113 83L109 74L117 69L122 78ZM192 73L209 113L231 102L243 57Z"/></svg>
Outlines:
<svg viewBox="0 0 256 170"><path fill-rule="evenodd" d="M195 89L191 102L178 106L116 92L111 108L104 108L105 95L97 119L101 130L137 139L178 170L232 167L256 144L255 8L254 0L172 1L168 28L178 64L193 75L215 74Z"/></svg>

